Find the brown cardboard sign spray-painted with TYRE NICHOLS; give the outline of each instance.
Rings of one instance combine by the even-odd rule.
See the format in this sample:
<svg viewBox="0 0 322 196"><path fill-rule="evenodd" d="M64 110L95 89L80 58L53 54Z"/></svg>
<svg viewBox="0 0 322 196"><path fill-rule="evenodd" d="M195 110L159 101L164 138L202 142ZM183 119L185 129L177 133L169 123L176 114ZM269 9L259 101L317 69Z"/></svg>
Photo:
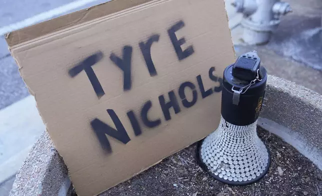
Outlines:
<svg viewBox="0 0 322 196"><path fill-rule="evenodd" d="M129 6L122 4L125 1L130 2ZM224 67L234 61L223 1L137 2L142 4L114 0L94 8L96 12L104 12L109 4L120 7L107 15L97 14L82 23L56 18L7 37L20 74L35 96L43 122L81 196L98 194L130 178L203 138L219 123L221 75ZM73 18L83 12L62 17ZM185 41L176 47L177 51L181 48L183 54L178 55L171 42L168 34L171 26L178 29L172 41ZM36 35L31 33L47 28L50 29ZM25 34L26 31L31 34ZM149 37L154 40L151 59L156 74L152 69L149 73L139 46L139 42L148 45ZM123 71L112 60L117 59L115 56L121 58L123 52L130 53L129 47L123 49L125 45L132 47L132 55L130 60L125 60L131 62L131 79L124 82ZM72 69L86 58L87 64L97 61L91 67L104 93L97 90L97 85L98 93L95 93L84 70ZM182 83L194 88L182 90L184 85L181 86L181 96L183 92L186 94L183 100L179 94ZM176 113L171 107L170 119L165 120L159 96L169 101L171 90L177 100ZM193 93L197 94L194 104ZM102 122L116 128L110 117L112 111L126 132L120 126L118 131L111 130L118 140L110 136L111 132L107 136L100 134L105 146L108 139L110 151L100 144L91 122L98 133L101 129L97 129L97 124ZM131 118L134 124L131 125L128 117L133 114L141 129L139 133L135 128L136 135L133 127L137 124ZM104 128L107 129L106 125Z"/></svg>

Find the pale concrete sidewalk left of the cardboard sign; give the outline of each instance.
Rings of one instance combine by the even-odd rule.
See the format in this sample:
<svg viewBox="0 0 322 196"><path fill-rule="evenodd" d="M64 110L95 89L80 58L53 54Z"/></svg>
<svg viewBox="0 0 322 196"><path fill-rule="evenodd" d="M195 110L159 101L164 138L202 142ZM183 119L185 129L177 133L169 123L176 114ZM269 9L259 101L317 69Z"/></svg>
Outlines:
<svg viewBox="0 0 322 196"><path fill-rule="evenodd" d="M44 130L33 96L0 110L0 195Z"/></svg>

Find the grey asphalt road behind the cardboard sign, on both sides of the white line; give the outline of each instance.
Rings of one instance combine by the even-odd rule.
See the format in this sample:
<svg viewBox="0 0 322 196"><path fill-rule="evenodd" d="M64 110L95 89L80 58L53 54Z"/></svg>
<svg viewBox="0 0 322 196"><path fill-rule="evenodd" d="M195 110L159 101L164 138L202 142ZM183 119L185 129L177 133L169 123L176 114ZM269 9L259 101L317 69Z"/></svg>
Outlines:
<svg viewBox="0 0 322 196"><path fill-rule="evenodd" d="M60 15L90 7L107 0L95 0ZM0 29L34 15L47 12L73 0L0 0ZM0 35L0 109L27 96L26 89L5 39Z"/></svg>

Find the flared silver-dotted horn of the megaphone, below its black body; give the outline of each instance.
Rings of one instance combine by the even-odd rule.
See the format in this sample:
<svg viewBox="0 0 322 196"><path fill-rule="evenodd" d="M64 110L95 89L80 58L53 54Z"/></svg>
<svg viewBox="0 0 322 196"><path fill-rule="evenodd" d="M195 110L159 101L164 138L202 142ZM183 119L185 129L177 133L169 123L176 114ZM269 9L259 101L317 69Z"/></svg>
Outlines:
<svg viewBox="0 0 322 196"><path fill-rule="evenodd" d="M199 165L216 180L246 185L262 178L270 164L269 150L256 133L256 122L238 126L222 116L218 128L198 143Z"/></svg>

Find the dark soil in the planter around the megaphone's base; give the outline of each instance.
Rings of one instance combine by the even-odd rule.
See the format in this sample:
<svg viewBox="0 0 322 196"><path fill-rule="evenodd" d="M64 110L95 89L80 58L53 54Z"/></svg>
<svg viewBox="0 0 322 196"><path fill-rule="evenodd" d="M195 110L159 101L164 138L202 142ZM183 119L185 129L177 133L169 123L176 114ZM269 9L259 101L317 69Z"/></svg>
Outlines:
<svg viewBox="0 0 322 196"><path fill-rule="evenodd" d="M216 181L197 164L193 144L100 195L322 195L322 172L309 159L266 130L258 127L257 132L270 150L271 164L256 183L230 186Z"/></svg>

